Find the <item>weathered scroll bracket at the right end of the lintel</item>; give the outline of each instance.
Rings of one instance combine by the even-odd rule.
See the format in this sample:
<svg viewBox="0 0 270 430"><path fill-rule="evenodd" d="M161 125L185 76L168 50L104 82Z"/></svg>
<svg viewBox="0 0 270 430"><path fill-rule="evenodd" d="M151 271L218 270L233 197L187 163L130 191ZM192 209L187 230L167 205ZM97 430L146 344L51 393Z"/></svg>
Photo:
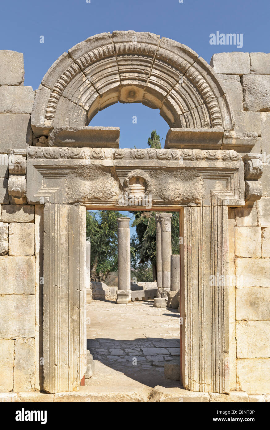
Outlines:
<svg viewBox="0 0 270 430"><path fill-rule="evenodd" d="M246 154L243 157L245 163L245 200L260 200L262 196L262 184L259 179L263 173L263 154Z"/></svg>

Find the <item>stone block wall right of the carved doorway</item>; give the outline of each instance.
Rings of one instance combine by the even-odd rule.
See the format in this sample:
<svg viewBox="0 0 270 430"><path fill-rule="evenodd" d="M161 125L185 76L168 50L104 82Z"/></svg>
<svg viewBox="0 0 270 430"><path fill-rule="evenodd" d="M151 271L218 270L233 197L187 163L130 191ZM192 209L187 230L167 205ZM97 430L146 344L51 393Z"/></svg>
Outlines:
<svg viewBox="0 0 270 430"><path fill-rule="evenodd" d="M270 54L220 53L210 64L229 93L235 141L253 141L251 152L263 154L261 200L232 209L230 240L236 279L242 283L235 288L237 390L266 394L270 392Z"/></svg>

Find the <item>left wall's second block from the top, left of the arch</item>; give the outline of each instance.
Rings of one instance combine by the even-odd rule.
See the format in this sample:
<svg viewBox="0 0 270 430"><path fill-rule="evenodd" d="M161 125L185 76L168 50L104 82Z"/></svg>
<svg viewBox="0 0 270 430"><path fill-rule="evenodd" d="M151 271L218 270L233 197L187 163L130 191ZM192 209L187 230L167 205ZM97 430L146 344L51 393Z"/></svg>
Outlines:
<svg viewBox="0 0 270 430"><path fill-rule="evenodd" d="M33 102L31 86L0 86L1 114L30 114Z"/></svg>

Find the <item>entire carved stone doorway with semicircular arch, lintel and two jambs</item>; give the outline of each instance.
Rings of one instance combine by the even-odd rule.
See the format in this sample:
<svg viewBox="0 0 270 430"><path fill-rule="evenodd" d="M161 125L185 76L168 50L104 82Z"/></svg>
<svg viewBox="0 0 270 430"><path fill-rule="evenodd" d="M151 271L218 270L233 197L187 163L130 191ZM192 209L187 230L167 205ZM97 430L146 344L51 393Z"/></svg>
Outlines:
<svg viewBox="0 0 270 430"><path fill-rule="evenodd" d="M117 101L159 108L174 126L166 149L101 148L95 137L91 147L78 147L74 132ZM78 390L85 372L85 207L123 209L119 196L130 178L140 177L153 211L182 212L183 386L228 393L228 288L209 279L229 273L228 206L245 204L245 173L249 198L259 198L259 175L252 157L244 172L240 155L222 146L234 119L212 68L188 47L154 34L103 33L53 64L31 121L36 136L49 135L49 147L27 150L27 201L44 204L44 389ZM59 130L65 140L52 141L50 133ZM106 132L115 140L115 129Z"/></svg>

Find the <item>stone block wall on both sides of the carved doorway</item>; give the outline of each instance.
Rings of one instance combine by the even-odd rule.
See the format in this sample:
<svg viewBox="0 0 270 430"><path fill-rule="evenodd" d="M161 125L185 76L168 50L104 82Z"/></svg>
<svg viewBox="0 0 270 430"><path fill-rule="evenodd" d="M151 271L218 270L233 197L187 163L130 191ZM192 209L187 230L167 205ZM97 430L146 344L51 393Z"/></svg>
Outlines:
<svg viewBox="0 0 270 430"><path fill-rule="evenodd" d="M261 200L229 211L230 272L243 276L243 286L230 289L231 390L265 401L270 392L270 55L215 54L211 65L234 109L236 125L228 139L242 155L253 144L252 153L265 154ZM32 144L34 92L23 82L23 55L0 51L0 393L42 389L43 211L8 194L16 176L9 175L8 156L20 149L24 157Z"/></svg>

